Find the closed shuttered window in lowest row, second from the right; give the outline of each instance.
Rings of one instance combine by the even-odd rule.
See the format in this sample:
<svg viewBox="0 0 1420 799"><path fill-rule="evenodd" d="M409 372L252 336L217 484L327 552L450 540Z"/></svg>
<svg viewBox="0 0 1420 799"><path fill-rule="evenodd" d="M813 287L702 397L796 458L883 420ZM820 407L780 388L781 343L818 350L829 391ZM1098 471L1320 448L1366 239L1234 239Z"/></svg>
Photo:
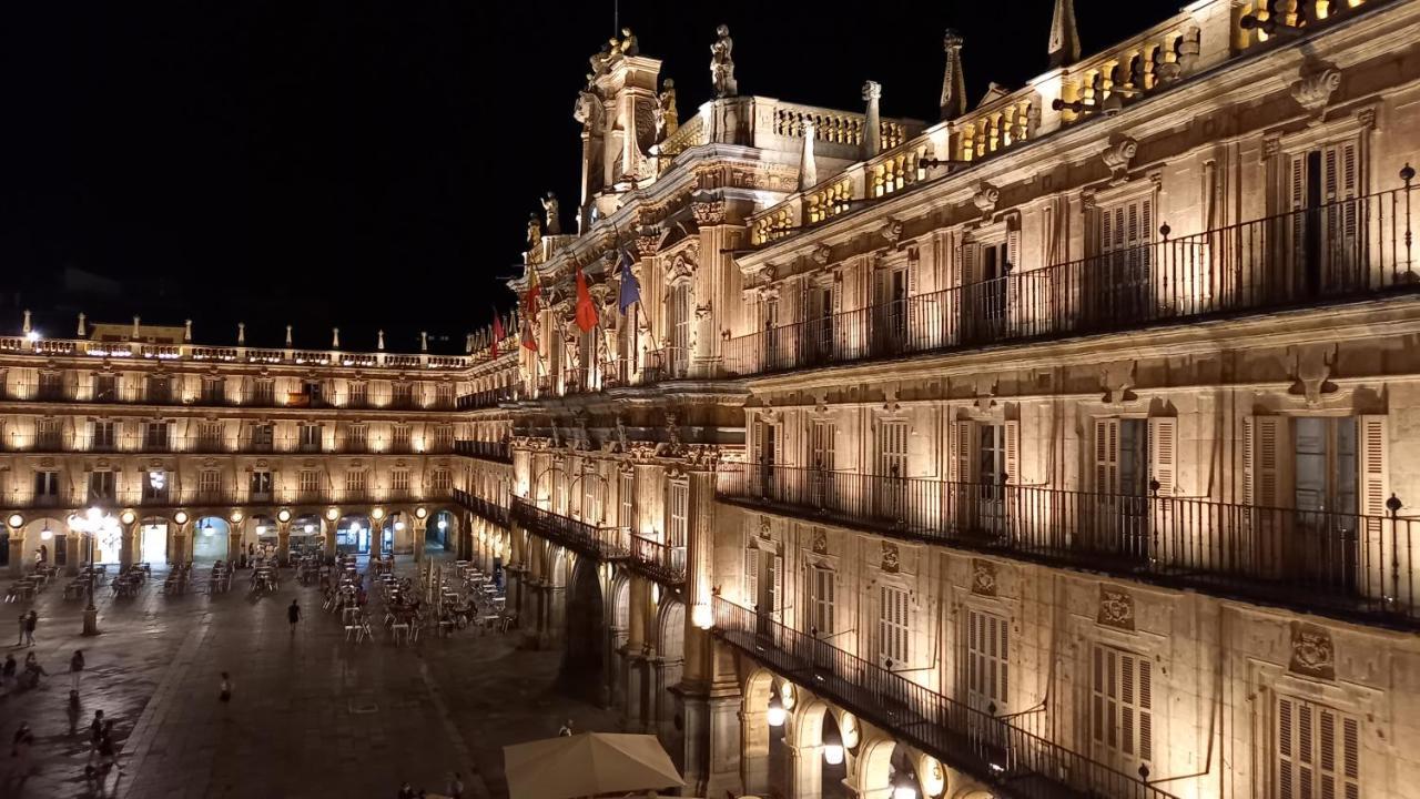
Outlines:
<svg viewBox="0 0 1420 799"><path fill-rule="evenodd" d="M1120 771L1153 761L1153 664L1096 644L1091 681L1091 738Z"/></svg>

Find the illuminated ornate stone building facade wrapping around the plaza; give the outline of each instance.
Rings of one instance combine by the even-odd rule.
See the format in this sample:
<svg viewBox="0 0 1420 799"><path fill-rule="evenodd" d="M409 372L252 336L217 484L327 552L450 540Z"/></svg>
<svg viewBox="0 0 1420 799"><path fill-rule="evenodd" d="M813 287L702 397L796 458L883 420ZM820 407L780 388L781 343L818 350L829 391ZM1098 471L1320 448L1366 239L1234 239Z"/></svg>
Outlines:
<svg viewBox="0 0 1420 799"><path fill-rule="evenodd" d="M577 233L544 200L497 348L0 340L6 445L48 446L3 455L11 562L104 463L135 522L153 471L224 471L230 502L163 508L446 513L692 795L1407 796L1414 41L1414 0L1198 0L1082 57L1061 0L1051 70L973 108L949 31L924 124L872 81L862 112L741 95L724 27L682 121L628 33L577 101ZM95 402L104 372L143 400ZM417 408L373 400L402 382ZM84 449L106 417L426 445ZM412 493L346 499L352 469Z"/></svg>

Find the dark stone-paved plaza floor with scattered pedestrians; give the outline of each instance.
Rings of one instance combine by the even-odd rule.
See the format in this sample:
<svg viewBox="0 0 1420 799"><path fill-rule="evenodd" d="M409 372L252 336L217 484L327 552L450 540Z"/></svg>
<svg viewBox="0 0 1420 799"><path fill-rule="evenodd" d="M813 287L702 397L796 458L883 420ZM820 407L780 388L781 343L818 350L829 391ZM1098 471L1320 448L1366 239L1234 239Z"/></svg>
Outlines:
<svg viewBox="0 0 1420 799"><path fill-rule="evenodd" d="M415 573L405 557L398 569ZM497 799L507 795L503 745L555 735L567 717L581 729L615 729L608 711L559 694L559 654L517 648L517 631L395 647L376 630L373 643L355 645L321 610L317 587L284 570L277 593L250 597L246 576L214 597L162 596L156 569L138 597L115 600L104 587L102 634L92 638L80 636L84 601L65 601L61 586L33 603L0 604L9 636L0 658L23 663L30 650L14 645L17 617L34 607L33 651L50 672L41 688L0 699L0 798L381 798L403 781L443 793L459 771L464 796ZM7 583L0 579L0 593ZM293 599L305 610L294 636ZM379 611L373 594L371 607ZM88 667L71 719L75 648ZM222 671L234 685L229 705L217 701ZM124 771L88 785L95 709L115 721ZM21 721L36 736L28 776L10 756Z"/></svg>

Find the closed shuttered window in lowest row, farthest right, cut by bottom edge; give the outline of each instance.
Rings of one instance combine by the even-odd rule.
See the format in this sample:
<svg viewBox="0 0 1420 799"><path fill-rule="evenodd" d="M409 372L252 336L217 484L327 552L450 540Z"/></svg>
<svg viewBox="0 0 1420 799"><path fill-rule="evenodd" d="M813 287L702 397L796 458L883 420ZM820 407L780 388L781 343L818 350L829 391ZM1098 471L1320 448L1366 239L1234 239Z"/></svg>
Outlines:
<svg viewBox="0 0 1420 799"><path fill-rule="evenodd" d="M1277 697L1272 717L1277 799L1360 799L1360 719Z"/></svg>

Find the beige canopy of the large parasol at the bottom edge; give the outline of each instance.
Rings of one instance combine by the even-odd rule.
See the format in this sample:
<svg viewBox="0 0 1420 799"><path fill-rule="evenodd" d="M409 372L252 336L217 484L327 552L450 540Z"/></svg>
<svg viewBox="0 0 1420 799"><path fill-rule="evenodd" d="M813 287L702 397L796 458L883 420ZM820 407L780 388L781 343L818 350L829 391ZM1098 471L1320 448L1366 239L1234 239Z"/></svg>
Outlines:
<svg viewBox="0 0 1420 799"><path fill-rule="evenodd" d="M686 782L655 735L584 732L503 748L510 799L574 799Z"/></svg>

